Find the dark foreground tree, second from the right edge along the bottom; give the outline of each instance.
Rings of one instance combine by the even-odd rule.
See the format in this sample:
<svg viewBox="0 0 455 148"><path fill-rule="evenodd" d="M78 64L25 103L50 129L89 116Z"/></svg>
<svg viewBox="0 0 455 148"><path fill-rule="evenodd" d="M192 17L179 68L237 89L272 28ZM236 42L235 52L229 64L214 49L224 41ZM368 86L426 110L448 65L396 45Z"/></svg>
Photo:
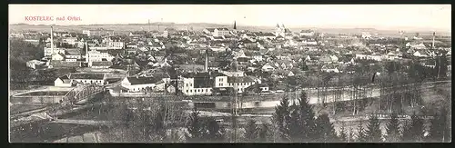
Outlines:
<svg viewBox="0 0 455 148"><path fill-rule="evenodd" d="M406 143L419 143L423 140L423 119L413 114L410 116L411 123L404 128L402 141Z"/></svg>

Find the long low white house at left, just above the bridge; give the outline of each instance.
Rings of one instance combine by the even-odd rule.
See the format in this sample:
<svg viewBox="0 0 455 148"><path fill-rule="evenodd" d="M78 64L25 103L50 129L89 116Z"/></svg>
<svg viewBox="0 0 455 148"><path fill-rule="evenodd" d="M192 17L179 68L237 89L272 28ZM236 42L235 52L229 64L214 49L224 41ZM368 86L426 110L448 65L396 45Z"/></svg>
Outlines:
<svg viewBox="0 0 455 148"><path fill-rule="evenodd" d="M69 74L72 83L104 85L105 74Z"/></svg>

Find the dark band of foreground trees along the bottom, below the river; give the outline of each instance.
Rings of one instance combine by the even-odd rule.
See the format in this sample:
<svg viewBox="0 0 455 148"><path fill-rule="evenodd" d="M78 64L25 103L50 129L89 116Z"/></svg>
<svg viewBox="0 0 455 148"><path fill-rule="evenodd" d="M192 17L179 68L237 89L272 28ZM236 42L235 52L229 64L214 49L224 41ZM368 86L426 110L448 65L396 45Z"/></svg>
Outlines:
<svg viewBox="0 0 455 148"><path fill-rule="evenodd" d="M387 122L386 132L381 132L380 121L371 116L368 121L359 121L355 129L345 123L336 131L328 113L314 113L308 104L306 94L301 94L298 103L290 103L283 98L276 107L271 123L258 123L248 120L237 128L224 126L214 118L203 117L197 108L190 113L165 99L158 103L139 104L134 110L126 103L119 104L113 112L113 129L116 141L121 142L294 142L294 143L375 143L375 142L450 142L448 112L440 110L430 119L430 130L426 134L424 119L412 115L410 122L399 122L398 114L392 113ZM365 123L364 123L365 122Z"/></svg>

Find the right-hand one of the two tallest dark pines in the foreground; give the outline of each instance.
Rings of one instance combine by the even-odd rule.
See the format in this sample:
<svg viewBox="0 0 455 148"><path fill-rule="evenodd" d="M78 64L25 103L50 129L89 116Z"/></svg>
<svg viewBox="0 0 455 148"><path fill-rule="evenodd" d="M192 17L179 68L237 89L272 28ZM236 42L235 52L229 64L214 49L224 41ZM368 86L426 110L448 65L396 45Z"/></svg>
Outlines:
<svg viewBox="0 0 455 148"><path fill-rule="evenodd" d="M311 105L308 103L307 94L302 93L300 94L300 98L298 99L298 111L299 111L299 122L301 124L301 133L302 133L302 142L312 142L315 140L314 133L315 133L315 113L311 108Z"/></svg>

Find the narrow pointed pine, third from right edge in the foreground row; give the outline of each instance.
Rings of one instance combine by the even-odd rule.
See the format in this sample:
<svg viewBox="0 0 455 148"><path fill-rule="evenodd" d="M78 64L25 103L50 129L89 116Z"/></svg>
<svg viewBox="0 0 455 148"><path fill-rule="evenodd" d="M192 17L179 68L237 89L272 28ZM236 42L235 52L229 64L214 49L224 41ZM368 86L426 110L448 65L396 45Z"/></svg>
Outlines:
<svg viewBox="0 0 455 148"><path fill-rule="evenodd" d="M386 141L390 143L398 143L400 142L400 130L399 130L399 120L398 114L392 113L390 114L389 123L387 123L387 136Z"/></svg>

